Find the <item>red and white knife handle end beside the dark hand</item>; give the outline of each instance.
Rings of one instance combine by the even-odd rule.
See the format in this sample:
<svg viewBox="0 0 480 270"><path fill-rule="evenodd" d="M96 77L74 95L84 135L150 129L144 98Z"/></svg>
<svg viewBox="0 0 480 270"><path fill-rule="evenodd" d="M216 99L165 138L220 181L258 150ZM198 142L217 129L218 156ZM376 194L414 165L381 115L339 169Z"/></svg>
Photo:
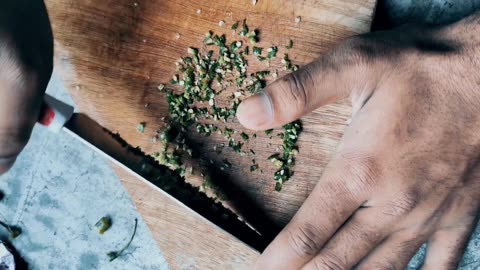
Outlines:
<svg viewBox="0 0 480 270"><path fill-rule="evenodd" d="M45 94L38 123L58 133L73 115L73 107Z"/></svg>

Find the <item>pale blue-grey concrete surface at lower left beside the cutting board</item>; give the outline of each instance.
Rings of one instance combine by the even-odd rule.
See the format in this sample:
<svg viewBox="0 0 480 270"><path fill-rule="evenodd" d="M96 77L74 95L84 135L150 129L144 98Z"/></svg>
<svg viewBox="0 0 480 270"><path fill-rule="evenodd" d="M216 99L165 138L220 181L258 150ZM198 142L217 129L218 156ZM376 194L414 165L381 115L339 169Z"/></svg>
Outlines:
<svg viewBox="0 0 480 270"><path fill-rule="evenodd" d="M48 92L69 100L58 80ZM15 166L0 178L0 190L0 220L22 228L12 243L31 269L168 269L106 160L65 133L36 127ZM105 215L113 225L99 235L94 225ZM129 240L135 218L132 245L109 262L107 252Z"/></svg>

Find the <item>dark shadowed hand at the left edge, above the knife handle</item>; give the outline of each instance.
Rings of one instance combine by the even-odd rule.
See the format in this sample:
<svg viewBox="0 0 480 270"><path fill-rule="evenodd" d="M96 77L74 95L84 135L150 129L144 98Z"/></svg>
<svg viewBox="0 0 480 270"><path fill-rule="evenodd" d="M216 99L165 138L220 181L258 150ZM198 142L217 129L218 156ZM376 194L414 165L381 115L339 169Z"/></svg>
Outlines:
<svg viewBox="0 0 480 270"><path fill-rule="evenodd" d="M41 0L0 3L0 174L27 143L50 79L53 41Z"/></svg>

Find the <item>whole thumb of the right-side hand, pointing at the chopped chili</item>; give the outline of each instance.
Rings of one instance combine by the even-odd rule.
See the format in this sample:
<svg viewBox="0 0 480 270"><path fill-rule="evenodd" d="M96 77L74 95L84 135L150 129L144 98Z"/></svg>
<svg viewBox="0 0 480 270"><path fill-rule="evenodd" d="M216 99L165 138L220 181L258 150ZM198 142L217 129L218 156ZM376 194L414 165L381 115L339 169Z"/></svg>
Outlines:
<svg viewBox="0 0 480 270"><path fill-rule="evenodd" d="M359 44L362 43L362 44ZM352 91L373 91L374 57L360 39L349 39L316 61L245 99L237 118L246 128L264 130L290 123L320 106L346 98Z"/></svg>

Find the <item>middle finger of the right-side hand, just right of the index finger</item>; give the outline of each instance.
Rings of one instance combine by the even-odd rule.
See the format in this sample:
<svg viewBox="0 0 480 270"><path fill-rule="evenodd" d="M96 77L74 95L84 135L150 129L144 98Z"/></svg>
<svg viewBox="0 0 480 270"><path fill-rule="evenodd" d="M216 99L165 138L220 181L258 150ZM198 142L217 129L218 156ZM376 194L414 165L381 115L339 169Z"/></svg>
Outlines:
<svg viewBox="0 0 480 270"><path fill-rule="evenodd" d="M392 217L376 212L358 210L302 270L352 269L387 236Z"/></svg>

